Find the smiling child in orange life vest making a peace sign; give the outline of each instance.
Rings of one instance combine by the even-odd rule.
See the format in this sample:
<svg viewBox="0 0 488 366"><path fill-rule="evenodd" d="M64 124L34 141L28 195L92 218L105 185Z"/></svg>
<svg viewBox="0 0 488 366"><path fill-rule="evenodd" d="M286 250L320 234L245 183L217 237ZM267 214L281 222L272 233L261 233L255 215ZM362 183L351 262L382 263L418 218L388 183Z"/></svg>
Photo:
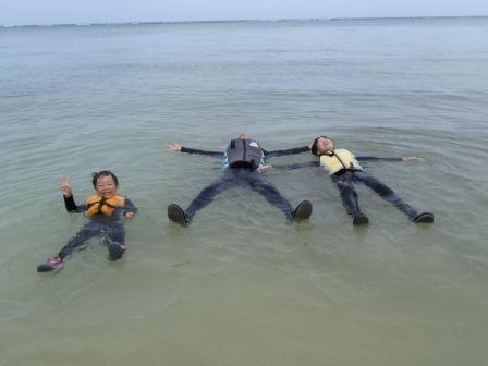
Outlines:
<svg viewBox="0 0 488 366"><path fill-rule="evenodd" d="M38 272L62 268L66 256L95 236L105 240L110 260L117 260L125 253L125 230L120 217L123 216L125 219L132 220L137 213L137 208L129 198L117 194L119 180L112 172L102 170L94 173L91 183L96 194L89 196L85 204L78 206L74 202L70 180L62 179L61 192L66 211L83 212L88 217L89 222L82 227L57 256L51 256L44 264L37 266Z"/></svg>

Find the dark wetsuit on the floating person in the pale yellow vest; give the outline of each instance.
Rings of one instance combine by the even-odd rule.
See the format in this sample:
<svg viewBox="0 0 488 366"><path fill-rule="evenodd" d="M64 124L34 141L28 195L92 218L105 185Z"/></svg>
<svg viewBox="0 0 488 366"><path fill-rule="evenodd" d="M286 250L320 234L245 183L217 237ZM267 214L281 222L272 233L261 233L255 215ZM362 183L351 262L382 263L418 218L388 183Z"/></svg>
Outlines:
<svg viewBox="0 0 488 366"><path fill-rule="evenodd" d="M356 157L357 161L402 161L402 158L377 158L377 157ZM305 167L318 167L318 161L310 161L306 163L296 163L291 166L282 166L277 168L284 169L297 169ZM332 182L339 190L341 195L342 205L345 207L347 213L355 217L361 213L359 202L357 198L354 183L363 183L373 191L375 191L381 198L390 203L403 213L405 213L410 220L417 217L417 211L414 210L408 204L402 200L389 186L382 183L380 180L369 175L363 170L355 169L341 169L337 173L330 175Z"/></svg>

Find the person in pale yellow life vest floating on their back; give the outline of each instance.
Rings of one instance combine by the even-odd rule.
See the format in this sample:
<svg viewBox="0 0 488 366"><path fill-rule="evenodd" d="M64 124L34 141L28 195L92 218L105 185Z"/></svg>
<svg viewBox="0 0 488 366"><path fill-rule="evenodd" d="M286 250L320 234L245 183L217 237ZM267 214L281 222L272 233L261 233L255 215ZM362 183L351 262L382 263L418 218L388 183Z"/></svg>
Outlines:
<svg viewBox="0 0 488 366"><path fill-rule="evenodd" d="M363 183L375 191L381 198L392 204L394 207L405 213L408 219L417 223L434 222L434 215L430 212L418 213L408 204L403 202L390 187L380 180L369 175L359 164L359 161L424 161L417 157L405 158L377 158L377 157L355 157L346 149L335 149L332 141L327 136L317 137L310 145L310 152L320 158L320 161L309 163L297 163L281 168L296 169L306 166L321 166L329 173L332 182L339 190L342 204L349 215L353 217L354 225L369 223L366 215L361 212L357 193L354 190L354 183Z"/></svg>

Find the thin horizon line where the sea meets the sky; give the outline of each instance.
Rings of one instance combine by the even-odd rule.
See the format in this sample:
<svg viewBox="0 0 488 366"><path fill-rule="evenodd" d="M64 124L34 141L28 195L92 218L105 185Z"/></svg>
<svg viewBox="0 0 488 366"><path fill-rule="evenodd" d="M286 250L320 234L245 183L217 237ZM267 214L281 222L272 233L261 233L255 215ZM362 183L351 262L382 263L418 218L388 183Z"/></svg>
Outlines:
<svg viewBox="0 0 488 366"><path fill-rule="evenodd" d="M0 25L0 28L13 27L50 27L50 26L90 26L90 25L157 25L157 24L191 24L191 23L244 23L244 22L334 22L334 21L375 21L375 20L423 20L423 19L457 19L488 17L488 15L427 15L427 16L359 16L359 17L286 17L286 19L248 19L248 20L212 20L212 21L154 21L154 22L95 22L95 23L42 23Z"/></svg>

